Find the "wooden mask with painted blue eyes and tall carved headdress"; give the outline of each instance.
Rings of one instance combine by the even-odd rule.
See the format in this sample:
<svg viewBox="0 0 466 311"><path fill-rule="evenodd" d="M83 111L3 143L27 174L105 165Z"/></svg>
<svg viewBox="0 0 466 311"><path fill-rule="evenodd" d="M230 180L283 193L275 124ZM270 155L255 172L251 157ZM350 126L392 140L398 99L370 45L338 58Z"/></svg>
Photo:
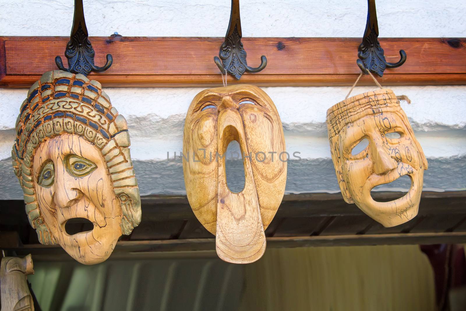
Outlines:
<svg viewBox="0 0 466 311"><path fill-rule="evenodd" d="M124 117L99 82L55 70L29 89L16 133L14 172L39 241L60 244L82 264L103 262L141 221ZM72 218L94 227L70 235Z"/></svg>

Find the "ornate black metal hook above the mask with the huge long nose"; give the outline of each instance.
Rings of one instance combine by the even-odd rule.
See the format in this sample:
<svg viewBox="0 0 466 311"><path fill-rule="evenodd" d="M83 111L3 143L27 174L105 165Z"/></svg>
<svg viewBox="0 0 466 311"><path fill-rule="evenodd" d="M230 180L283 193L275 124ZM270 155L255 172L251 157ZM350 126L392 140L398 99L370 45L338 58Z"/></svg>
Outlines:
<svg viewBox="0 0 466 311"><path fill-rule="evenodd" d="M256 73L267 66L267 57L264 55L260 57L259 67L247 66L246 51L241 43L241 37L240 0L232 0L230 23L226 31L225 42L220 47L220 58L215 56L213 60L223 74L228 72L237 80L241 79L245 71Z"/></svg>

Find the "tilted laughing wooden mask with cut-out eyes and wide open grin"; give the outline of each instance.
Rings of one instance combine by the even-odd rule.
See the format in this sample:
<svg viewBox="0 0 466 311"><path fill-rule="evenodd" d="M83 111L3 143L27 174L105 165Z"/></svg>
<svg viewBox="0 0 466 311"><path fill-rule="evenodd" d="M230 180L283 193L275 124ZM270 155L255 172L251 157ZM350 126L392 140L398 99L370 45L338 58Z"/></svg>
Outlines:
<svg viewBox="0 0 466 311"><path fill-rule="evenodd" d="M418 214L427 160L392 90L367 92L337 103L327 110L327 127L338 184L347 203L356 203L385 227ZM369 145L354 154L353 148L364 138ZM390 202L372 199L370 190L404 175L411 179L405 196Z"/></svg>

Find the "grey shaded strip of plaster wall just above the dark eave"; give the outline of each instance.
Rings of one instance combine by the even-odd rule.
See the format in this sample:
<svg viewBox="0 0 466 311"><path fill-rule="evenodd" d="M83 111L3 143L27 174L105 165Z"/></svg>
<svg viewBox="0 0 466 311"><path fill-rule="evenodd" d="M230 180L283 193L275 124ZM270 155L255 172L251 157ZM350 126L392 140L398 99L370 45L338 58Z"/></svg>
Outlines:
<svg viewBox="0 0 466 311"><path fill-rule="evenodd" d="M424 174L424 191L456 191L466 189L466 156L458 158L427 159L429 169ZM244 169L242 160L227 160L228 186L233 191L242 189ZM173 161L133 161L141 196L150 194L186 194L181 159ZM445 178L445 171L450 172ZM0 160L0 197L2 200L22 200L23 191L11 168L11 157ZM13 182L12 182L13 181ZM230 182L231 181L231 182ZM233 183L232 183L233 182ZM233 185L234 183L238 183ZM396 183L379 191L398 191ZM394 189L395 188L395 189ZM286 193L340 192L331 159L302 159L288 162Z"/></svg>

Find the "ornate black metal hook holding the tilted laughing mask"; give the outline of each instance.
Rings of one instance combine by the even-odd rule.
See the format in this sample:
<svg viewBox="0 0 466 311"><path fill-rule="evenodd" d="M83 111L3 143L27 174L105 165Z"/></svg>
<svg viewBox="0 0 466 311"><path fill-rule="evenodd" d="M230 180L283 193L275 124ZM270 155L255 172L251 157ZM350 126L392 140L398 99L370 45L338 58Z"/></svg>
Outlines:
<svg viewBox="0 0 466 311"><path fill-rule="evenodd" d="M378 24L377 24L377 12L376 12L376 1L367 0L368 11L367 11L367 22L366 30L364 32L363 42L358 47L356 61L357 65L364 74L369 74L369 71L373 74L377 74L379 77L384 75L385 68L397 68L404 64L406 61L406 53L400 50L400 60L396 63L389 63L385 60L384 50L380 47L378 38Z"/></svg>

